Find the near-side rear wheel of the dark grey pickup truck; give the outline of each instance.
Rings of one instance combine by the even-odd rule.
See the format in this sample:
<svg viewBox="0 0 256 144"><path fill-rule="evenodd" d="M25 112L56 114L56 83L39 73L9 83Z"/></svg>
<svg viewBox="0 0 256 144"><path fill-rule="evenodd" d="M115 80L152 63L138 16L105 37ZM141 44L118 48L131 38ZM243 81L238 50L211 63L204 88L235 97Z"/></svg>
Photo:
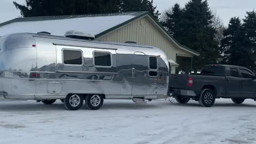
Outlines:
<svg viewBox="0 0 256 144"><path fill-rule="evenodd" d="M198 102L202 107L211 107L215 102L215 93L210 89L201 91Z"/></svg>

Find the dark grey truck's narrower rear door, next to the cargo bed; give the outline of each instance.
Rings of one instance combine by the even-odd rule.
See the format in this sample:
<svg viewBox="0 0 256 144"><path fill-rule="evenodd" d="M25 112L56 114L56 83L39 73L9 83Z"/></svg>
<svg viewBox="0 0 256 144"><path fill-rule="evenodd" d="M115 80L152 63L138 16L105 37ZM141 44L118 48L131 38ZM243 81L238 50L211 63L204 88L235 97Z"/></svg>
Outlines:
<svg viewBox="0 0 256 144"><path fill-rule="evenodd" d="M239 77L237 68L230 68L230 76L227 76L228 97L240 97L242 92L242 78Z"/></svg>

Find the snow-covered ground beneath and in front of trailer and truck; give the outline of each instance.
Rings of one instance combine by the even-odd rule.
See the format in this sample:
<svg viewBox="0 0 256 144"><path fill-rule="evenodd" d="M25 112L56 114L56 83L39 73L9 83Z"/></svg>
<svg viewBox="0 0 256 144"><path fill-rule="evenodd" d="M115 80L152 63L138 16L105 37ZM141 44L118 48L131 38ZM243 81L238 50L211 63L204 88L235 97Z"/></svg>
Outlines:
<svg viewBox="0 0 256 144"><path fill-rule="evenodd" d="M255 108L229 99L211 108L106 100L96 111L68 111L59 100L0 102L0 143L256 143Z"/></svg>

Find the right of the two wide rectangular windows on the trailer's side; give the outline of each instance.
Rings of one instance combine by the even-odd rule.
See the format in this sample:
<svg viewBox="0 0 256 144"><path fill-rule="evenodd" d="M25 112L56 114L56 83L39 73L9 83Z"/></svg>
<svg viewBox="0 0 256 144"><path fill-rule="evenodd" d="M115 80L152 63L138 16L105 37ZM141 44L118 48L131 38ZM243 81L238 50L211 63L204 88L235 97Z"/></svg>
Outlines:
<svg viewBox="0 0 256 144"><path fill-rule="evenodd" d="M101 67L111 66L111 54L109 52L94 52L94 65Z"/></svg>

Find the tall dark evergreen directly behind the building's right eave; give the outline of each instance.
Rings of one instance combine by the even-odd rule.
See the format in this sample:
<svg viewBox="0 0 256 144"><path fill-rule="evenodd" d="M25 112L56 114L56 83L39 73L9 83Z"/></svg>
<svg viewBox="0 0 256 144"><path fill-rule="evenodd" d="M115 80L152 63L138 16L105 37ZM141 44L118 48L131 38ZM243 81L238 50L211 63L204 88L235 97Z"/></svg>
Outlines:
<svg viewBox="0 0 256 144"><path fill-rule="evenodd" d="M194 59L194 71L204 65L216 63L219 58L217 34L213 26L213 18L206 0L190 0L183 9L178 22L178 34L174 38L181 44L190 47L200 53Z"/></svg>

